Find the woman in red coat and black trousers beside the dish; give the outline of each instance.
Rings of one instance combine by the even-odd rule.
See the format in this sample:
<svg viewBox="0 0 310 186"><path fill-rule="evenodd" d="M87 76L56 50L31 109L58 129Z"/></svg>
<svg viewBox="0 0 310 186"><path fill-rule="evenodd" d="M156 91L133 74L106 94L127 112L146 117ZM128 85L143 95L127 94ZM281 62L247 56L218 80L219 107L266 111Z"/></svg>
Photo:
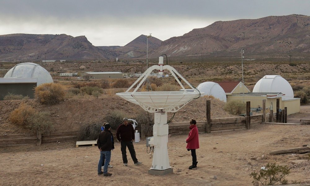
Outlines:
<svg viewBox="0 0 310 186"><path fill-rule="evenodd" d="M187 150L191 151L192 158L193 158L193 164L189 166L189 169L193 169L197 167L197 156L196 156L196 149L199 148L199 138L198 138L198 128L196 126L196 120L192 119L192 121L189 122L190 126L189 128L191 131L189 131L188 138L186 139L186 148Z"/></svg>

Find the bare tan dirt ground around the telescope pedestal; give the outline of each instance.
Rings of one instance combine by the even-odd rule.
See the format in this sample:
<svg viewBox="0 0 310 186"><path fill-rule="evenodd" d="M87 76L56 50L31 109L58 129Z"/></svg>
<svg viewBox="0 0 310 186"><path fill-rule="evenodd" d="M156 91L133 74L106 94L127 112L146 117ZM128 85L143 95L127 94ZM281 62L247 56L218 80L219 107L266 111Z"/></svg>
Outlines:
<svg viewBox="0 0 310 186"><path fill-rule="evenodd" d="M309 119L310 106L301 108ZM288 116L295 117L299 114ZM130 157L128 166L123 166L120 143L115 143L110 163L114 167L108 169L111 177L97 175L97 147L75 148L75 142L61 142L1 148L0 185L252 185L249 174L267 162L289 166L289 183L310 183L309 153L269 155L270 151L310 144L309 136L309 125L257 124L250 130L202 133L198 168L188 170L191 154L185 148L187 135L173 135L168 153L174 172L165 176L148 175L152 153L147 153L145 139L134 144L137 158L143 162L140 166L133 165Z"/></svg>

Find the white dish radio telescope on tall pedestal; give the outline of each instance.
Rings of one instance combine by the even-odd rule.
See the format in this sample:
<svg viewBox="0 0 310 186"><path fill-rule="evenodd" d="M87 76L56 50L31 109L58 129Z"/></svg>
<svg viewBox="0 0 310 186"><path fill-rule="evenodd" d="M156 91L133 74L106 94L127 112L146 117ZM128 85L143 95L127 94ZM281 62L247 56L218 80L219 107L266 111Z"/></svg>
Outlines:
<svg viewBox="0 0 310 186"><path fill-rule="evenodd" d="M143 85L153 70L159 70L162 75L163 70L169 70L171 76L179 83L184 91L148 91L137 92L139 87ZM178 77L181 78L190 89L185 89ZM139 84L138 84L139 83ZM134 91L130 90L136 85ZM189 91L190 90L190 91ZM195 98L200 96L200 93L186 79L184 79L173 67L163 65L163 57L159 57L158 65L149 67L125 92L117 93L121 98L141 106L145 111L154 113L153 126L153 141L149 144L154 145L154 154L152 167L148 170L152 175L166 175L173 172L169 164L167 143L168 143L168 123L167 112L177 112L184 105L188 104Z"/></svg>

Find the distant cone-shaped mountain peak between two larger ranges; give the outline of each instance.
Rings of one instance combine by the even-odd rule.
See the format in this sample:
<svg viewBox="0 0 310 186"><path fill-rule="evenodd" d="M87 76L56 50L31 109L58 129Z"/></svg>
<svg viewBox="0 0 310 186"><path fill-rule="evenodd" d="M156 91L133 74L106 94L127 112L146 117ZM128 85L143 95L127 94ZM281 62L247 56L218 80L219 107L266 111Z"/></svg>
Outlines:
<svg viewBox="0 0 310 186"><path fill-rule="evenodd" d="M146 35L140 35L124 47L119 47L115 49L115 51L117 52L118 57L121 58L139 58L144 55L146 56L147 42L148 52L150 52L158 48L161 45L162 40L154 37L149 37L147 41Z"/></svg>

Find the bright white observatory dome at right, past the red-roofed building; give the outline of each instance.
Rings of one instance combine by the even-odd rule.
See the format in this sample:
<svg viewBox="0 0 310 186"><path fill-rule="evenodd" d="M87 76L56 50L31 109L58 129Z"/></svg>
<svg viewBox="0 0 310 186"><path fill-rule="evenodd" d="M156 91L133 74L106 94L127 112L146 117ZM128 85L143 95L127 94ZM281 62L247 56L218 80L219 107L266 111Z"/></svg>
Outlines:
<svg viewBox="0 0 310 186"><path fill-rule="evenodd" d="M294 98L294 92L290 83L279 75L266 75L254 86L253 92L281 92L285 94L282 100Z"/></svg>

